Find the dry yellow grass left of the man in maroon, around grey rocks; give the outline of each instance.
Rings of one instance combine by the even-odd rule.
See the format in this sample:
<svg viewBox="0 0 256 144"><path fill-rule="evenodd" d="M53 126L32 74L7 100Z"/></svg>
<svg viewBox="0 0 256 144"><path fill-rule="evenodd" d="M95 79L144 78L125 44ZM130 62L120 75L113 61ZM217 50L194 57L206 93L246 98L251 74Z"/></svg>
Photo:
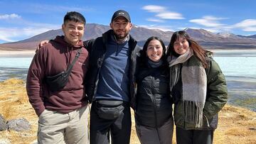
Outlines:
<svg viewBox="0 0 256 144"><path fill-rule="evenodd" d="M0 82L0 113L9 121L14 118L26 118L31 123L31 131L1 131L1 141L10 143L31 143L36 139L37 116L26 95L25 83L21 79L8 79Z"/></svg>

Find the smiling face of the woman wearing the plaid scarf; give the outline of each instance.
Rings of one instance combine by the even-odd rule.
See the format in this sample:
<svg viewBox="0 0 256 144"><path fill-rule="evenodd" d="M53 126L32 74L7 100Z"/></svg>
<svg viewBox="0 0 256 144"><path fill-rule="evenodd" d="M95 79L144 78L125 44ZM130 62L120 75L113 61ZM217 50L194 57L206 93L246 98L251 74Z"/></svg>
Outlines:
<svg viewBox="0 0 256 144"><path fill-rule="evenodd" d="M188 40L186 38L180 37L174 42L174 51L178 55L183 55L189 48Z"/></svg>

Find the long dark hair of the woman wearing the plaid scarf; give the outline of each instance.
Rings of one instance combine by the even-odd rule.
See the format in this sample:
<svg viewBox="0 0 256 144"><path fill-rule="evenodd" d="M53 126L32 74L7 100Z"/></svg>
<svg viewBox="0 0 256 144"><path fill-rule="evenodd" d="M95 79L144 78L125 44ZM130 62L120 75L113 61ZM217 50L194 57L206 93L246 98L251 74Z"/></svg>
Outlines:
<svg viewBox="0 0 256 144"><path fill-rule="evenodd" d="M191 50L193 50L194 55L198 57L198 59L202 62L203 67L207 68L208 67L208 62L206 60L207 55L213 54L213 52L210 52L208 50L205 50L199 45L195 40L193 40L186 31L176 31L172 36L171 36L171 41L168 45L167 48L167 55L174 55L176 57L179 56L178 53L175 52L174 50L174 43L176 40L179 38L185 38L188 41L189 47Z"/></svg>

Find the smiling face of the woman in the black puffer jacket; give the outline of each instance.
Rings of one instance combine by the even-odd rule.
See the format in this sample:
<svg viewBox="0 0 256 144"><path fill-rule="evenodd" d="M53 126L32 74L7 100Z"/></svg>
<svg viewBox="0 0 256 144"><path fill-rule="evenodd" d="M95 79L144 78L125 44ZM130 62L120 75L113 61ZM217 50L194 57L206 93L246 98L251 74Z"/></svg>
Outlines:
<svg viewBox="0 0 256 144"><path fill-rule="evenodd" d="M151 40L146 48L146 55L153 62L159 62L163 55L163 47L159 40Z"/></svg>

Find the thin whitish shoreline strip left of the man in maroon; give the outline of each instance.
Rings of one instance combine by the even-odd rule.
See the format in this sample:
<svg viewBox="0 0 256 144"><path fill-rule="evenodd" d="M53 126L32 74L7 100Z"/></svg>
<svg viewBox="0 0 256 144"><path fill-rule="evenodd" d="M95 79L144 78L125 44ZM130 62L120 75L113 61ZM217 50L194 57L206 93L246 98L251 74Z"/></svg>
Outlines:
<svg viewBox="0 0 256 144"><path fill-rule="evenodd" d="M35 55L35 50L0 50L0 57L21 57L33 55Z"/></svg>

